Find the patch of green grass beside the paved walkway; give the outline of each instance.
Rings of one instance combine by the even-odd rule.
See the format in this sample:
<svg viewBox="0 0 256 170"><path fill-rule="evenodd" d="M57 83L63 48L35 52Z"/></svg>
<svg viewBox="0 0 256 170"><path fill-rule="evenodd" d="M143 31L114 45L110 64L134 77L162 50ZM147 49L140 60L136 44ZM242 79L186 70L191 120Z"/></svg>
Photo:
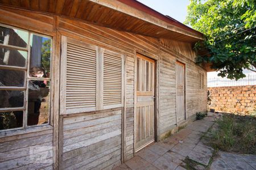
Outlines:
<svg viewBox="0 0 256 170"><path fill-rule="evenodd" d="M256 117L224 114L212 129L209 144L216 150L256 154Z"/></svg>

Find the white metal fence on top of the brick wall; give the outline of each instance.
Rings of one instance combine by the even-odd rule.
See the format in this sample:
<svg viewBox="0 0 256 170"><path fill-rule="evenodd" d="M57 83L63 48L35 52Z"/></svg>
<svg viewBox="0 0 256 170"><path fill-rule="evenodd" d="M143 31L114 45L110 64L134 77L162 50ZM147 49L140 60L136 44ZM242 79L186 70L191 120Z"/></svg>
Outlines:
<svg viewBox="0 0 256 170"><path fill-rule="evenodd" d="M224 87L224 86L247 86L256 85L256 75L246 75L239 80L230 80L227 78L214 77L207 79L207 87Z"/></svg>

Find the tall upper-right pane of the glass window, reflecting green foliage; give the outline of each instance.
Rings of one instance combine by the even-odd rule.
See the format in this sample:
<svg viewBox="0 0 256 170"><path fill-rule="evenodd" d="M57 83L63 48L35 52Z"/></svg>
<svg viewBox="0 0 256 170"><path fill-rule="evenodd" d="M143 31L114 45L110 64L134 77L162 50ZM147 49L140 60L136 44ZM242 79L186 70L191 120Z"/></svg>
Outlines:
<svg viewBox="0 0 256 170"><path fill-rule="evenodd" d="M51 41L46 37L31 35L30 76L49 78Z"/></svg>

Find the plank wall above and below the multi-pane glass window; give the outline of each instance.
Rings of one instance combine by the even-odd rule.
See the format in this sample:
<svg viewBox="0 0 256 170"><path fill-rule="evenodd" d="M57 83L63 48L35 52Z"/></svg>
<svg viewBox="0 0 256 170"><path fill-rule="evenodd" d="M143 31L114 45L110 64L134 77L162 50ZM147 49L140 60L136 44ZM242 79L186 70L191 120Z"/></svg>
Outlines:
<svg viewBox="0 0 256 170"><path fill-rule="evenodd" d="M3 7L0 8L0 16L0 23L28 29L43 35L55 35L53 33L53 16L35 15L32 12ZM55 39L53 39L53 44L55 44ZM54 75L54 71L52 71L52 75ZM54 107L53 102L51 107ZM53 169L52 126L0 134L0 169L37 169L38 167Z"/></svg>

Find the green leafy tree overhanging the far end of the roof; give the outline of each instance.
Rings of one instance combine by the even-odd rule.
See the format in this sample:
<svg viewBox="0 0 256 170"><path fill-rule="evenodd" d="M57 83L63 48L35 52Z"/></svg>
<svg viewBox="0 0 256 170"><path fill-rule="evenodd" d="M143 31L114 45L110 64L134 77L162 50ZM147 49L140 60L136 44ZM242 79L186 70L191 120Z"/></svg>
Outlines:
<svg viewBox="0 0 256 170"><path fill-rule="evenodd" d="M218 76L245 77L243 69L256 72L256 0L190 0L185 24L204 33L195 49L208 50L197 63L212 63Z"/></svg>

